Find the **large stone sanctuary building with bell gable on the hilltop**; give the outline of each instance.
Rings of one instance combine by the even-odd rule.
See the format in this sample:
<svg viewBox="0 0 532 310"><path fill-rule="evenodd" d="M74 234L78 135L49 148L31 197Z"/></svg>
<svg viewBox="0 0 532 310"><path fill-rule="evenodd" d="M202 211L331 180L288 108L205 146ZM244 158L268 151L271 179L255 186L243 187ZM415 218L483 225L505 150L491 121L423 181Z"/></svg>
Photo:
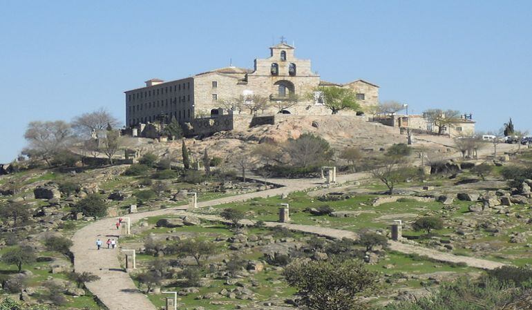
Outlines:
<svg viewBox="0 0 532 310"><path fill-rule="evenodd" d="M252 70L229 66L174 81L149 79L145 87L126 91L126 125L132 127L161 118L167 122L174 118L184 123L190 122L195 116L216 116L223 112L222 100L241 95L246 98L260 95L269 101L289 100L296 95L297 104L282 113L330 114L331 111L323 106L319 96L308 99L308 94L312 94L317 86L351 88L357 93L357 100L362 107L374 106L379 102L379 86L362 79L347 84L323 81L312 71L310 60L296 58L294 46L285 41L269 50L268 58L255 59ZM280 111L268 108L262 112ZM242 113L249 112L244 110Z"/></svg>

